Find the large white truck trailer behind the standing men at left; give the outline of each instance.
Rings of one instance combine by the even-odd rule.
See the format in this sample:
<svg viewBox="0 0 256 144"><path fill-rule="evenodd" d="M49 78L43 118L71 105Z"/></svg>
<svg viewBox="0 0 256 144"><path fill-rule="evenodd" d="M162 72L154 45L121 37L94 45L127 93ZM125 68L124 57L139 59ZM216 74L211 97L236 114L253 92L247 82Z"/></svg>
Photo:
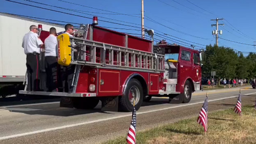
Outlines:
<svg viewBox="0 0 256 144"><path fill-rule="evenodd" d="M39 24L44 30L55 27L57 32L64 31L62 25L0 13L0 97L18 94L18 89L24 89L27 68L22 39L29 32L30 25Z"/></svg>

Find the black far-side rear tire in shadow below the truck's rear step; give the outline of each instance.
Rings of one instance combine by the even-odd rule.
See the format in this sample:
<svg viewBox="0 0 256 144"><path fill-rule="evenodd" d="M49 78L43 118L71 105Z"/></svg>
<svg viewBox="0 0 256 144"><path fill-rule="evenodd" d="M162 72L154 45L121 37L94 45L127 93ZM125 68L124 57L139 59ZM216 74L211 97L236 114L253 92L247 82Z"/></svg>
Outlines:
<svg viewBox="0 0 256 144"><path fill-rule="evenodd" d="M95 98L73 98L74 107L76 109L94 109L100 100Z"/></svg>

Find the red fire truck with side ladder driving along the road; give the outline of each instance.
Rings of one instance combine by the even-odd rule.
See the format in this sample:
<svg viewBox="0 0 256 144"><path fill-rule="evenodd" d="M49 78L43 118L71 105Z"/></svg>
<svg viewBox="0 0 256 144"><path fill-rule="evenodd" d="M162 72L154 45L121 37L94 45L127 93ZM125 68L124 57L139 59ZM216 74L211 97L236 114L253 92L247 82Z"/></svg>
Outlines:
<svg viewBox="0 0 256 144"><path fill-rule="evenodd" d="M93 24L80 25L76 31L80 37L70 37L70 64L75 65L72 93L26 89L19 93L60 96L60 107L92 109L101 101L102 111L130 112L133 101L138 110L152 96L189 103L192 92L201 89L201 52L165 41L154 45L97 24L94 17ZM44 30L39 33L43 41L49 35Z"/></svg>

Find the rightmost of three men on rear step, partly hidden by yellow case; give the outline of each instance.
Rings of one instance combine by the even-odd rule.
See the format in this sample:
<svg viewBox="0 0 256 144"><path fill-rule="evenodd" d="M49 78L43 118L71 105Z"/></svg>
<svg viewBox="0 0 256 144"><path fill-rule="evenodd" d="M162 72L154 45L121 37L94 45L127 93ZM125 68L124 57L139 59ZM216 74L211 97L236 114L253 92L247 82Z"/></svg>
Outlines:
<svg viewBox="0 0 256 144"><path fill-rule="evenodd" d="M71 24L66 24L65 25L65 34L68 34L69 37L73 37L73 32L74 32L74 27L73 25ZM77 58L78 56L78 53L77 53L77 50L73 49L74 51L74 59ZM64 91L65 92L68 92L68 93L72 93L73 91L73 87L71 86L71 83L72 83L72 79L73 79L73 74L74 74L74 70L75 70L75 65L73 64L70 64L69 66L64 66L64 83L63 85L66 86ZM66 84L66 85L65 85Z"/></svg>

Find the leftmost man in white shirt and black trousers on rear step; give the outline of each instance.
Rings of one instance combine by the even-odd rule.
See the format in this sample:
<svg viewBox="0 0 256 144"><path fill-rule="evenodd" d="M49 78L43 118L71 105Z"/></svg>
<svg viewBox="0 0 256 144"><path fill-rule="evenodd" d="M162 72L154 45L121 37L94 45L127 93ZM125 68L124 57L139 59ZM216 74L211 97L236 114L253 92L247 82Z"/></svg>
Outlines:
<svg viewBox="0 0 256 144"><path fill-rule="evenodd" d="M27 55L27 91L40 90L39 54L40 47L43 45L43 42L39 38L37 31L37 26L31 25L30 32L25 34L22 40L22 47L24 48L24 53Z"/></svg>

